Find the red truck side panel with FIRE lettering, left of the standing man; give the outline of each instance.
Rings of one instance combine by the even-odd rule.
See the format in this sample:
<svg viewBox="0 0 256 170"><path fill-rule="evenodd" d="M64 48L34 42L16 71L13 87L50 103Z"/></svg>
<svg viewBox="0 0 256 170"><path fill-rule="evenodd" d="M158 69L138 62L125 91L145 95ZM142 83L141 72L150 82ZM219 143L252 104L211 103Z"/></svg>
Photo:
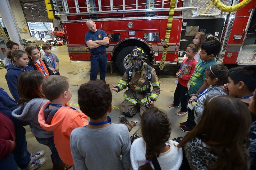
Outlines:
<svg viewBox="0 0 256 170"><path fill-rule="evenodd" d="M90 52L84 40L85 23L64 23L70 60L90 60ZM88 29L88 28L87 28Z"/></svg>

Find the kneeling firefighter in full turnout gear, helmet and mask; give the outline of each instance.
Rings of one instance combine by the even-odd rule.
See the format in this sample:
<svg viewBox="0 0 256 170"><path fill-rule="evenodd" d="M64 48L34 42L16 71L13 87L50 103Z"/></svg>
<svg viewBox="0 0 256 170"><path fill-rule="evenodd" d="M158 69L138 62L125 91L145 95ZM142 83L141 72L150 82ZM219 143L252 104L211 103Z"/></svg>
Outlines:
<svg viewBox="0 0 256 170"><path fill-rule="evenodd" d="M159 79L156 75L156 70L144 62L146 55L142 48L135 47L129 59L132 61L132 66L129 67L123 78L112 90L119 92L126 87L128 90L124 92L124 101L121 104L121 111L126 116L136 114L136 106L140 105L140 116L148 107L154 104L160 94ZM151 91L151 84L153 90Z"/></svg>

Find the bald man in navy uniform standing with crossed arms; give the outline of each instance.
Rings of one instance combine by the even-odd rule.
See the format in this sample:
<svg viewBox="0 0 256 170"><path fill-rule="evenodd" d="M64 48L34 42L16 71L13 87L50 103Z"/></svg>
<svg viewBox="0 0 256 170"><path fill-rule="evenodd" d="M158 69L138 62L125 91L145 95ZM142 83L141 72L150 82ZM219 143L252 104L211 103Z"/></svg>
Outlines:
<svg viewBox="0 0 256 170"><path fill-rule="evenodd" d="M92 19L86 21L89 31L84 35L85 42L91 53L91 73L90 80L96 80L100 66L100 80L105 81L108 55L105 45L109 44L109 39L105 31L97 29ZM106 82L106 81L105 81Z"/></svg>

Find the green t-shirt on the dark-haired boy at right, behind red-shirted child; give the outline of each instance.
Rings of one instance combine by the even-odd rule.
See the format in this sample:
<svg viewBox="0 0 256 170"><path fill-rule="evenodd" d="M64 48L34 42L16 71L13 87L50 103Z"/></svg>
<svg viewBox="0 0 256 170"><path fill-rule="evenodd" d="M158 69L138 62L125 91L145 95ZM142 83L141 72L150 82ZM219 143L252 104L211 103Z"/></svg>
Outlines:
<svg viewBox="0 0 256 170"><path fill-rule="evenodd" d="M200 89L200 87L204 84L204 80L206 78L205 69L209 66L217 64L216 59L212 58L209 61L199 60L196 63L195 72L191 76L189 83L190 88L188 90L188 94L196 94L196 92Z"/></svg>

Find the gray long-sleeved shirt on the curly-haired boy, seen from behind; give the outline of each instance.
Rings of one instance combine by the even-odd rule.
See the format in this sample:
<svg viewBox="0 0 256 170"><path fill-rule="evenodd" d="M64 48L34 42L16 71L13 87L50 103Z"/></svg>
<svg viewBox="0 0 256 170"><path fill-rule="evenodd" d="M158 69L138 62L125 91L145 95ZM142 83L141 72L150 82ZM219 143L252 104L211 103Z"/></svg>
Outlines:
<svg viewBox="0 0 256 170"><path fill-rule="evenodd" d="M70 147L76 170L130 169L131 142L124 124L76 128L70 135Z"/></svg>

